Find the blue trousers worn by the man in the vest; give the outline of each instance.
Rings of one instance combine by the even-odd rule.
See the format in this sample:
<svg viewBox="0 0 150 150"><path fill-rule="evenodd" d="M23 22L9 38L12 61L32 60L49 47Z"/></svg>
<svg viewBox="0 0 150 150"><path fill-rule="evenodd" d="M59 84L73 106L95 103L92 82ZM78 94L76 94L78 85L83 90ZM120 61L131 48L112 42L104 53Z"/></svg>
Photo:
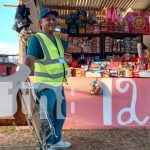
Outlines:
<svg viewBox="0 0 150 150"><path fill-rule="evenodd" d="M54 134L49 136L50 129L46 131L46 137L48 137L46 139L47 144L55 144L60 141L62 127L66 118L66 98L64 94L64 87L55 89L56 91L51 88L43 89L41 91L34 89L34 92L40 102L41 97L46 96L47 103L45 106L47 108L50 122L55 129L56 136Z"/></svg>

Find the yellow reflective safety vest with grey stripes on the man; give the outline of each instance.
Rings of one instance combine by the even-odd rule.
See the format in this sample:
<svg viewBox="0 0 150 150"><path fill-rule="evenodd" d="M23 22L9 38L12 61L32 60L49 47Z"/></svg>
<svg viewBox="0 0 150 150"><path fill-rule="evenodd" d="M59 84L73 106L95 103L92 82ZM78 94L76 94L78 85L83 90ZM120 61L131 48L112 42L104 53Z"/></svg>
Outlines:
<svg viewBox="0 0 150 150"><path fill-rule="evenodd" d="M68 75L68 67L64 60L64 48L61 39L55 36L57 47L45 34L35 35L43 50L44 58L34 63L33 83L45 83L51 86L60 86Z"/></svg>

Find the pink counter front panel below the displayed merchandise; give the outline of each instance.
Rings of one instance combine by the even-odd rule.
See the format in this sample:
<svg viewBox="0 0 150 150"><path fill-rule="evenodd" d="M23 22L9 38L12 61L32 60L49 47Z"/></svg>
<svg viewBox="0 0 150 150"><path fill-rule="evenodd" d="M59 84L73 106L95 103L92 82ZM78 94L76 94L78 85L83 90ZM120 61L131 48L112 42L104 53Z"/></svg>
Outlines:
<svg viewBox="0 0 150 150"><path fill-rule="evenodd" d="M69 78L64 128L150 127L149 78L102 78L102 95L90 94L93 80L96 78Z"/></svg>

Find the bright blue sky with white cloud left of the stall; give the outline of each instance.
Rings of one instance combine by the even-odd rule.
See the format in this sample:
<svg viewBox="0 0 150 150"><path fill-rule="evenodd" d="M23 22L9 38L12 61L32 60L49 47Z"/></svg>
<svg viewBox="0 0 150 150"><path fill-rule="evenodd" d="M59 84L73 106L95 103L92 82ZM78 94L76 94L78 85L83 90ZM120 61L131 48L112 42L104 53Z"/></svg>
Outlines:
<svg viewBox="0 0 150 150"><path fill-rule="evenodd" d="M17 54L18 33L12 29L16 7L4 7L3 4L18 5L18 0L0 0L0 54Z"/></svg>

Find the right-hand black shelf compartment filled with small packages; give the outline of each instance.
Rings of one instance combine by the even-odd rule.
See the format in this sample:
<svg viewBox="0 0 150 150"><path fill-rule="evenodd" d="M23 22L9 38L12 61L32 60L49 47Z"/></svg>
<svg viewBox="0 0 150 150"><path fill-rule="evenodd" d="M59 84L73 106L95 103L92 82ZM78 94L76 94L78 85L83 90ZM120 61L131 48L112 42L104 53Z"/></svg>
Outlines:
<svg viewBox="0 0 150 150"><path fill-rule="evenodd" d="M101 33L101 54L102 58L110 55L122 56L125 53L138 56L137 43L143 41L142 34L130 33Z"/></svg>

